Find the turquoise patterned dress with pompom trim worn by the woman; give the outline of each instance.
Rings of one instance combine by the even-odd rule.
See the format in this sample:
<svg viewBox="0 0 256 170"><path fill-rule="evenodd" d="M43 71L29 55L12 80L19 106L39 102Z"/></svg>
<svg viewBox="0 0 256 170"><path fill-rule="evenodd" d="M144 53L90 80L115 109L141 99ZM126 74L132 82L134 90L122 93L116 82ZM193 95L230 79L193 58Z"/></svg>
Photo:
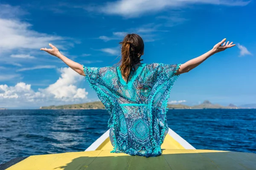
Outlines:
<svg viewBox="0 0 256 170"><path fill-rule="evenodd" d="M85 67L89 85L110 119L112 153L159 156L168 133L167 99L180 64L142 63L126 84L119 67Z"/></svg>

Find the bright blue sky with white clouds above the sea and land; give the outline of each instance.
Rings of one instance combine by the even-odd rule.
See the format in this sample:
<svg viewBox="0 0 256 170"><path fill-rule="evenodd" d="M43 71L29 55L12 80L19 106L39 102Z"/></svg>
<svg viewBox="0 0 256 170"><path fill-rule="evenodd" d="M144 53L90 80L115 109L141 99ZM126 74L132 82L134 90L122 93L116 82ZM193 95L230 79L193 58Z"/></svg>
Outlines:
<svg viewBox="0 0 256 170"><path fill-rule="evenodd" d="M227 38L235 47L181 74L169 103L256 103L255 0L0 0L0 108L99 101L85 77L40 48L89 67L116 64L125 34L144 63L184 63Z"/></svg>

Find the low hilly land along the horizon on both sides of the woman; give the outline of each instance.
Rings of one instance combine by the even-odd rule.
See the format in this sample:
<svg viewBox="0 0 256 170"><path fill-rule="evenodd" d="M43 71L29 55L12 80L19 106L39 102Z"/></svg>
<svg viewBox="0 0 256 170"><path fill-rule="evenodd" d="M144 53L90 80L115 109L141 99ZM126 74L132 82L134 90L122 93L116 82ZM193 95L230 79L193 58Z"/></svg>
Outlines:
<svg viewBox="0 0 256 170"><path fill-rule="evenodd" d="M233 104L230 104L228 106L222 106L218 104L212 104L211 102L209 102L209 100L205 100L200 105L187 106L182 104L177 104L177 105L168 104L167 108L169 109L239 109L241 107L238 107ZM105 106L102 104L102 102L88 102L88 103L73 104L73 105L43 106L43 107L40 107L40 109L105 109Z"/></svg>

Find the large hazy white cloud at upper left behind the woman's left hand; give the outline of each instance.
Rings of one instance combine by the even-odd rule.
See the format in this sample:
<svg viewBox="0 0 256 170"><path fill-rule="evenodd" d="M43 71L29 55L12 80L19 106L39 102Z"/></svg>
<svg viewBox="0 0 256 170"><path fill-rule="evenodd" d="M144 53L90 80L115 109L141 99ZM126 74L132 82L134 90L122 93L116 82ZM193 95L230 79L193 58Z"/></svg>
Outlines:
<svg viewBox="0 0 256 170"><path fill-rule="evenodd" d="M64 52L73 47L69 37L45 34L32 30L32 24L20 19L27 14L19 6L0 5L0 63L27 64L26 59L35 58L34 54L46 55L40 48L48 47L48 43L56 45ZM11 56L11 57L10 57ZM47 58L38 58L34 62L42 63Z"/></svg>

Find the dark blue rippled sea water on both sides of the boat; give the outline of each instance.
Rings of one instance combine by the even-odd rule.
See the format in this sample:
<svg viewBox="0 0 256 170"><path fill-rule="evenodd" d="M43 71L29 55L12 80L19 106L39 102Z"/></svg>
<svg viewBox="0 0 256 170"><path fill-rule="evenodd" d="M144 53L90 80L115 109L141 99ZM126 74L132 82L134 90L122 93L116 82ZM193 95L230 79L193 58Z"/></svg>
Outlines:
<svg viewBox="0 0 256 170"><path fill-rule="evenodd" d="M1 110L0 164L84 151L108 130L105 110ZM256 153L256 109L169 110L169 127L196 149Z"/></svg>

